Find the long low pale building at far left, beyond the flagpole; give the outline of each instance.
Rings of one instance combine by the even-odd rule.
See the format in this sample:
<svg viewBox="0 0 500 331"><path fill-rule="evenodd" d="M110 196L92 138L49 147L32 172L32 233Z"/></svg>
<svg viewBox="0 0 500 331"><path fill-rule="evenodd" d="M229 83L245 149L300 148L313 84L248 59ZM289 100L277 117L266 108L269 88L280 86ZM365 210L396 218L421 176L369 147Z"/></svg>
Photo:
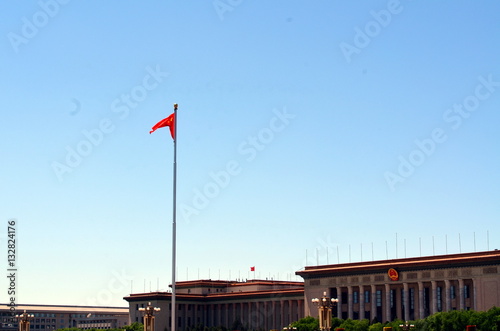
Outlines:
<svg viewBox="0 0 500 331"><path fill-rule="evenodd" d="M121 307L17 305L16 314L26 311L34 317L31 330L57 330L62 328L111 329L129 324L129 310ZM12 319L10 307L0 304L0 330L17 330L17 321Z"/></svg>

